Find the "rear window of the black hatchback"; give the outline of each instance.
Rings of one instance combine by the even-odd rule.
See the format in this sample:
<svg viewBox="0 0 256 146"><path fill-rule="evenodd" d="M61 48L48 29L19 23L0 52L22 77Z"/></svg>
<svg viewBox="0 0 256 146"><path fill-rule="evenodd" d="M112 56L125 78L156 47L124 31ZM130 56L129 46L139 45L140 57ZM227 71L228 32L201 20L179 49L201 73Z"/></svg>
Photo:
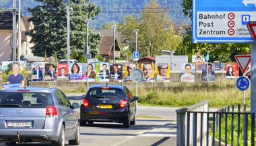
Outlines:
<svg viewBox="0 0 256 146"><path fill-rule="evenodd" d="M123 90L118 88L90 88L87 92L86 96L94 97L94 98L123 98Z"/></svg>

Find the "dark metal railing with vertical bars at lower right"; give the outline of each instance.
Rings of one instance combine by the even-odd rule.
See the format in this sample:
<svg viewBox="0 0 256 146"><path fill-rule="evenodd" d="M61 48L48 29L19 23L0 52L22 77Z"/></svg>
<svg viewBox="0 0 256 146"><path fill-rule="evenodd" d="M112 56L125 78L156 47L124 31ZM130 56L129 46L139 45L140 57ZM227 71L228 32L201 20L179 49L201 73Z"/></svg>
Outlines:
<svg viewBox="0 0 256 146"><path fill-rule="evenodd" d="M193 120L191 119L191 115L193 115ZM212 127L210 127L209 115L212 115ZM236 117L237 119L234 119ZM246 106L244 106L244 111L241 112L240 104L238 104L237 112L234 112L234 105L232 105L232 111L230 112L230 107L224 107L218 110L218 112L205 112L205 111L187 111L187 127L186 127L186 145L198 145L197 139L199 139L199 145L216 145L216 137L215 133L218 133L218 144L222 145L221 140L224 138L224 145L227 145L228 139L228 130L231 130L231 145L234 145L234 132L237 132L237 145L240 145L241 137L240 137L240 125L241 125L241 115L244 117L243 121L243 145L249 145L248 143L248 123L249 116L251 116L251 145L255 145L255 113L246 113ZM206 117L206 121L204 121ZM230 119L231 126L228 127L228 119ZM223 121L224 120L224 121ZM234 121L237 120L237 131L234 131L235 125ZM191 121L192 124L191 124ZM224 123L224 124L222 124ZM178 124L178 121L177 121ZM192 127L191 127L192 125ZM206 135L204 126L206 126ZM225 135L221 135L222 126L224 125ZM209 131L212 129L212 139L210 139ZM228 129L230 128L230 129ZM191 132L191 129L192 132ZM179 137L179 135L177 135ZM192 137L192 139L191 139ZM185 139L183 139L185 140ZM178 143L177 143L178 144ZM184 144L185 145L185 144Z"/></svg>

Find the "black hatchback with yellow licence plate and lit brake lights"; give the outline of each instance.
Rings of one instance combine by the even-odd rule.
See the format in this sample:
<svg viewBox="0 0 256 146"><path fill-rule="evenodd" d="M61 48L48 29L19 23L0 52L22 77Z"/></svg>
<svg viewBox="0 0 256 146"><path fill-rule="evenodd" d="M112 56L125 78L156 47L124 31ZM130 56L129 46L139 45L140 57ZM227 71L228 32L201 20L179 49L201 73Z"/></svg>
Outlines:
<svg viewBox="0 0 256 146"><path fill-rule="evenodd" d="M94 85L82 96L80 125L94 122L123 123L125 128L136 122L135 100L126 86Z"/></svg>

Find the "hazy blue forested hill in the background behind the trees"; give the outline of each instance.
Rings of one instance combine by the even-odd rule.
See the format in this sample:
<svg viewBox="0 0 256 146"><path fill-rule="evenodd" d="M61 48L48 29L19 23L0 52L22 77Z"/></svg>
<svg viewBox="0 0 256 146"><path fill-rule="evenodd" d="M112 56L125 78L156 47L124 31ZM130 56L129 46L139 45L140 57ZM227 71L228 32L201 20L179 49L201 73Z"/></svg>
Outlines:
<svg viewBox="0 0 256 146"><path fill-rule="evenodd" d="M90 0L89 3L96 3L97 6L102 6L102 12L90 22L90 25L92 25L94 29L100 29L104 23L121 22L125 15L135 15L135 17L137 17L140 11L143 11L143 7L146 6L147 1L149 0ZM183 14L181 0L160 0L158 3L160 3L162 7L170 9L169 15L173 23L177 23L178 25L191 24L191 19L187 16L185 17ZM0 0L1 8L6 7L10 9L12 5L13 0ZM27 11L28 7L33 8L36 7L36 5L42 5L42 3L34 0L22 0L22 14L30 16L31 14ZM18 9L18 1L16 7Z"/></svg>

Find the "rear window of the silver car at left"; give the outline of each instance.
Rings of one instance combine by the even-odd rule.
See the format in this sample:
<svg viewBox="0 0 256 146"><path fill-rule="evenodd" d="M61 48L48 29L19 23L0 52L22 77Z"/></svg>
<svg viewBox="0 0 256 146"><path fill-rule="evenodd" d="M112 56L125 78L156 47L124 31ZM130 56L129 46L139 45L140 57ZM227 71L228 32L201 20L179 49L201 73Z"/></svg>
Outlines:
<svg viewBox="0 0 256 146"><path fill-rule="evenodd" d="M53 96L42 92L0 92L0 108L13 104L22 108L46 108L53 105Z"/></svg>

